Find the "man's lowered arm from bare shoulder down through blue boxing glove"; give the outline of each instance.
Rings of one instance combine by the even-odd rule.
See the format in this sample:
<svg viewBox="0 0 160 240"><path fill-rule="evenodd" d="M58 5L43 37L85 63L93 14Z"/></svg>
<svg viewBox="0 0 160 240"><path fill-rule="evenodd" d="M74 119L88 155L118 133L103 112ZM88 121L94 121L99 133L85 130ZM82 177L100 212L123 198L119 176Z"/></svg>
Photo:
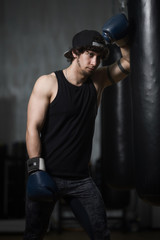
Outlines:
<svg viewBox="0 0 160 240"><path fill-rule="evenodd" d="M26 192L32 201L53 201L56 183L46 172L45 160L41 157L40 132L49 104L57 93L55 74L40 77L33 88L27 113L26 143L28 180Z"/></svg>

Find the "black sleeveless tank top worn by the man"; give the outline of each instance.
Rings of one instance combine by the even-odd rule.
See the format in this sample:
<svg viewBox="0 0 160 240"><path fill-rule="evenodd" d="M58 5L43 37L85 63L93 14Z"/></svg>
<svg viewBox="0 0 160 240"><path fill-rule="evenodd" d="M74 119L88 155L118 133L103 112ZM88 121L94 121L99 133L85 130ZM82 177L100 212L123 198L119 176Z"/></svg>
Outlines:
<svg viewBox="0 0 160 240"><path fill-rule="evenodd" d="M97 114L96 89L91 79L78 87L68 82L62 71L55 74L58 92L41 132L46 170L52 176L87 177Z"/></svg>

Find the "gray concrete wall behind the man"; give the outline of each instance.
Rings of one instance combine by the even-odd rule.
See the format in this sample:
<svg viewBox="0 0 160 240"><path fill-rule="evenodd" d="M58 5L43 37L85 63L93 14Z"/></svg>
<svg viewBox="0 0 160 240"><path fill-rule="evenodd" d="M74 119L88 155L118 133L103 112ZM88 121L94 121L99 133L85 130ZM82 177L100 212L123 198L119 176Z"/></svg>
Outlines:
<svg viewBox="0 0 160 240"><path fill-rule="evenodd" d="M118 0L1 0L0 143L25 140L27 103L36 79L68 65L63 53L82 29L101 32ZM94 154L99 154L99 116Z"/></svg>

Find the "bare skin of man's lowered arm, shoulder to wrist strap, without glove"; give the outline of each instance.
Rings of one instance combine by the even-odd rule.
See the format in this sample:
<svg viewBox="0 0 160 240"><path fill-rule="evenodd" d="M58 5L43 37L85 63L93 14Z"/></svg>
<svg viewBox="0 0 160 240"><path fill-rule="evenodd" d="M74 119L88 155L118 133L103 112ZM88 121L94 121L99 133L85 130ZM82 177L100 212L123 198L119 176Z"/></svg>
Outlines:
<svg viewBox="0 0 160 240"><path fill-rule="evenodd" d="M35 83L28 103L26 145L29 158L41 155L40 132L48 106L56 92L56 81L54 80L55 77L53 78L51 75L40 77Z"/></svg>

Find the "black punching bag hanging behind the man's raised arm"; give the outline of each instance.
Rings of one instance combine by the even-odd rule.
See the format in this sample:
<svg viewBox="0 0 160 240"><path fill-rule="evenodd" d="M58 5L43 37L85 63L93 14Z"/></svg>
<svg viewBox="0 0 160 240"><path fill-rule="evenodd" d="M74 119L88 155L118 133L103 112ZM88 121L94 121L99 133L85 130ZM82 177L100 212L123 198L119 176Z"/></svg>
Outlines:
<svg viewBox="0 0 160 240"><path fill-rule="evenodd" d="M120 49L111 45L109 58L103 65L112 64L120 57ZM115 189L131 189L134 187L134 173L128 77L104 90L101 120L103 181Z"/></svg>

